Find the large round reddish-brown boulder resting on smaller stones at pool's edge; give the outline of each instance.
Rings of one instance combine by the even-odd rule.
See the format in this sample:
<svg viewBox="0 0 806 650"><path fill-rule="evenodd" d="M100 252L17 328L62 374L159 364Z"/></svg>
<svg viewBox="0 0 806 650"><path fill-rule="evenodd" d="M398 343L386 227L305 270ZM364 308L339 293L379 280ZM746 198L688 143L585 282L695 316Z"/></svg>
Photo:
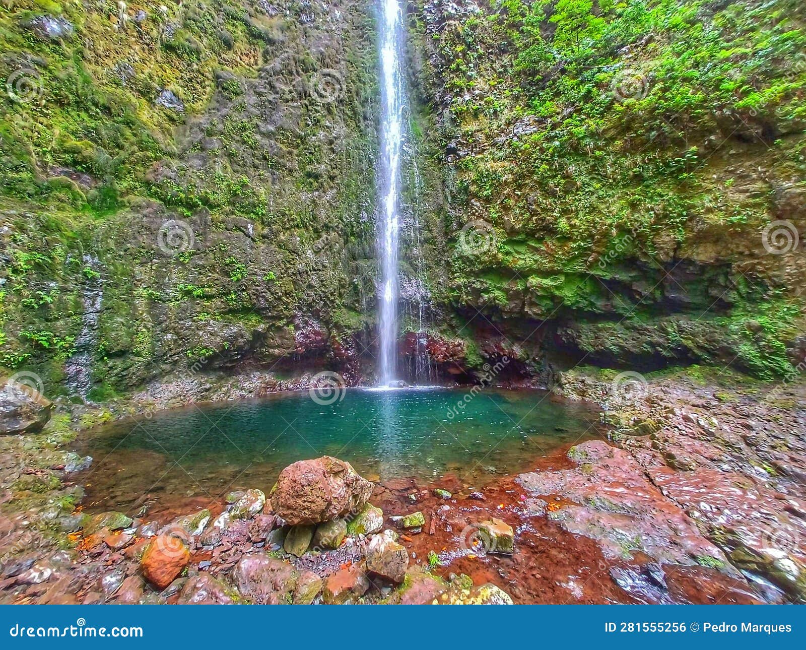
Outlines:
<svg viewBox="0 0 806 650"><path fill-rule="evenodd" d="M300 460L280 472L272 489L272 509L291 525L326 522L360 510L373 488L338 458Z"/></svg>

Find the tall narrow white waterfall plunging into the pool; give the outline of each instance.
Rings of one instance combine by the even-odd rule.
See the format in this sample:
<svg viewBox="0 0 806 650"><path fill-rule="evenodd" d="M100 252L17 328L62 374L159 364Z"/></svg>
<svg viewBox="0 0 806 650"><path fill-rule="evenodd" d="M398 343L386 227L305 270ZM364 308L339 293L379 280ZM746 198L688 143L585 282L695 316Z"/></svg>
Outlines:
<svg viewBox="0 0 806 650"><path fill-rule="evenodd" d="M381 0L380 23L380 383L394 381L397 366L398 209L403 140L403 72L401 69L403 11L400 0Z"/></svg>

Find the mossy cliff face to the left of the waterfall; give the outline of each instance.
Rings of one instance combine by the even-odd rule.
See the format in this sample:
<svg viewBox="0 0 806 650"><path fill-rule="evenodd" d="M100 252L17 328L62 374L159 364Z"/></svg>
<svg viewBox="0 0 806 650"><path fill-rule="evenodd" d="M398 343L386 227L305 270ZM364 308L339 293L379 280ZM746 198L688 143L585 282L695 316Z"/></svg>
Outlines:
<svg viewBox="0 0 806 650"><path fill-rule="evenodd" d="M357 372L371 2L37 0L0 22L0 366L90 398L193 365Z"/></svg>

